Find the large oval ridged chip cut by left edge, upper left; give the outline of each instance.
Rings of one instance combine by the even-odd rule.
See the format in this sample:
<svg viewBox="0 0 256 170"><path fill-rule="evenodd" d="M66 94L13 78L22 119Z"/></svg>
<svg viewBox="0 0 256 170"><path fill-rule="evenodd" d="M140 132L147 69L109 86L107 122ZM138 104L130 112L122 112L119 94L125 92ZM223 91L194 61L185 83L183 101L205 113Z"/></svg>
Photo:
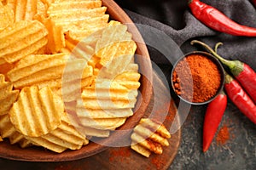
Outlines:
<svg viewBox="0 0 256 170"><path fill-rule="evenodd" d="M48 31L38 20L20 20L0 32L0 58L14 63L43 48Z"/></svg>

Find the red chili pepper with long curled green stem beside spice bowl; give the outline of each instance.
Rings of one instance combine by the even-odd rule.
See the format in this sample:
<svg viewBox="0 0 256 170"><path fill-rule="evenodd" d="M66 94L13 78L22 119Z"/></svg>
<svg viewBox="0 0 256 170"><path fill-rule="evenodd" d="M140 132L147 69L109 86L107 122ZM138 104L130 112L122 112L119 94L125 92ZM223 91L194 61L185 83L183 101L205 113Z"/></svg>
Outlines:
<svg viewBox="0 0 256 170"><path fill-rule="evenodd" d="M193 40L191 44L199 43L204 48L218 58L224 65L227 65L230 68L230 71L236 80L241 83L241 86L247 91L247 94L253 99L254 104L256 104L256 73L253 69L239 60L228 60L224 59L217 54L218 45L222 44L218 42L215 46L215 51L210 48L206 43Z"/></svg>

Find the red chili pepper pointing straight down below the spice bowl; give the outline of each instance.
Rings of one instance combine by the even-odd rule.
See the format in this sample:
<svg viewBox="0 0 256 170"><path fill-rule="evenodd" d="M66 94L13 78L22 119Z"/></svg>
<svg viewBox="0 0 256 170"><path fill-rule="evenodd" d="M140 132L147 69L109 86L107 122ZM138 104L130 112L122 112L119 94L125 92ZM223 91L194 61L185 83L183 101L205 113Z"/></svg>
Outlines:
<svg viewBox="0 0 256 170"><path fill-rule="evenodd" d="M221 93L207 105L207 112L203 126L203 151L206 152L212 143L214 134L224 115L227 106L227 96Z"/></svg>

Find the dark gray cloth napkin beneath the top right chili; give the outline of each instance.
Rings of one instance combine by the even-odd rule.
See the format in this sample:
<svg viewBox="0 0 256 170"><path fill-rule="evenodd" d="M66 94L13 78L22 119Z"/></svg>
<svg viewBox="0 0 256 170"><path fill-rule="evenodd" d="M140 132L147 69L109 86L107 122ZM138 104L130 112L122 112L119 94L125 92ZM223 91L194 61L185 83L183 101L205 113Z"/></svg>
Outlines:
<svg viewBox="0 0 256 170"><path fill-rule="evenodd" d="M201 0L201 2L218 8L241 25L256 27L256 8L249 0ZM206 42L212 48L217 42L223 42L224 45L218 48L218 54L226 59L240 59L256 71L256 37L236 37L213 31L195 19L189 11L186 0L116 0L116 3L125 8L125 12L136 24L152 26L172 38L183 54L204 50L200 46L190 45L190 41L194 39ZM152 37L150 39L151 32L144 31L140 26L138 28L146 42L154 40L162 47L166 46L163 48L169 49L170 55L166 56L158 49L148 46L154 63L172 65L180 57L180 51L170 47L169 43Z"/></svg>

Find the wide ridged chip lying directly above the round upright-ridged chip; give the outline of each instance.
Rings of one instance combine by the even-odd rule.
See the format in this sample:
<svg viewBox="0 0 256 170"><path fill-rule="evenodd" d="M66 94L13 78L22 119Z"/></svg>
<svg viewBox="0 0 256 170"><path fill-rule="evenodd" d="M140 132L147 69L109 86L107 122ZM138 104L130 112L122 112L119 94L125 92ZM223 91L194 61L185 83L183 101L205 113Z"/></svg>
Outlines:
<svg viewBox="0 0 256 170"><path fill-rule="evenodd" d="M7 77L15 88L24 88L38 82L62 77L68 59L67 54L32 54L21 59Z"/></svg>

